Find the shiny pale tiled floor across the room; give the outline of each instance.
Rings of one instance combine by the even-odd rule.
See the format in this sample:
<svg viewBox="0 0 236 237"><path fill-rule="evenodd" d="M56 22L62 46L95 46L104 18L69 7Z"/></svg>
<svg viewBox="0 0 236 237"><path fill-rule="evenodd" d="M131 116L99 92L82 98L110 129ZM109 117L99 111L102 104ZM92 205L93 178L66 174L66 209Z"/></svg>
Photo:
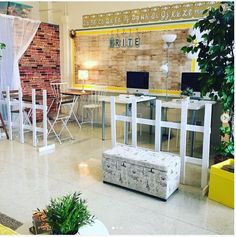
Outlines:
<svg viewBox="0 0 236 237"><path fill-rule="evenodd" d="M110 234L233 234L234 211L202 197L198 187L181 185L167 202L102 183L101 157L110 148L101 129L71 125L75 140L56 143L55 152L39 154L30 144L0 141L0 212L30 222L32 211L51 197L81 191L91 212ZM150 138L142 136L148 146ZM198 184L199 169L188 168Z"/></svg>

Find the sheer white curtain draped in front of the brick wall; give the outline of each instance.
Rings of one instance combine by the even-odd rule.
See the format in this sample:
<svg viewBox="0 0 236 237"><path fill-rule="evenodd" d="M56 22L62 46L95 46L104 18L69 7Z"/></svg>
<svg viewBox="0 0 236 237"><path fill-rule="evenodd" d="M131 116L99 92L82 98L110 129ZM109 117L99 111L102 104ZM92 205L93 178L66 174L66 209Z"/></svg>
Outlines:
<svg viewBox="0 0 236 237"><path fill-rule="evenodd" d="M40 22L0 14L0 42L6 44L0 61L0 91L21 87L19 60L33 40Z"/></svg>

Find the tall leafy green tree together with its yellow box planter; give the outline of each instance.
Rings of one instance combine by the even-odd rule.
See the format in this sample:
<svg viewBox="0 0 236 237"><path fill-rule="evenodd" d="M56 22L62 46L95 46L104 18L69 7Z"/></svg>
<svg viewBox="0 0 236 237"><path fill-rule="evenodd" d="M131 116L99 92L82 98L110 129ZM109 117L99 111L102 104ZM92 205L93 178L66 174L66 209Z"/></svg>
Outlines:
<svg viewBox="0 0 236 237"><path fill-rule="evenodd" d="M201 40L189 35L184 53L197 53L197 62L204 77L201 78L201 95L220 100L223 108L221 144L217 152L221 160L211 166L208 197L229 207L234 207L234 2L222 2L216 9L203 12L205 17L195 23ZM218 95L214 93L218 92Z"/></svg>

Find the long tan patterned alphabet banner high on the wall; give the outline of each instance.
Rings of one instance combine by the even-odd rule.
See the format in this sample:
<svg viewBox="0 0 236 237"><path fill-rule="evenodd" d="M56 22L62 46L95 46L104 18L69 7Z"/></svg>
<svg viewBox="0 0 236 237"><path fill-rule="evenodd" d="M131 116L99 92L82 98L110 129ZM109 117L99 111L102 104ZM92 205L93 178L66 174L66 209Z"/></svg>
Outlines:
<svg viewBox="0 0 236 237"><path fill-rule="evenodd" d="M83 16L83 27L141 24L158 21L199 19L202 12L220 2L189 2L150 8L108 12Z"/></svg>

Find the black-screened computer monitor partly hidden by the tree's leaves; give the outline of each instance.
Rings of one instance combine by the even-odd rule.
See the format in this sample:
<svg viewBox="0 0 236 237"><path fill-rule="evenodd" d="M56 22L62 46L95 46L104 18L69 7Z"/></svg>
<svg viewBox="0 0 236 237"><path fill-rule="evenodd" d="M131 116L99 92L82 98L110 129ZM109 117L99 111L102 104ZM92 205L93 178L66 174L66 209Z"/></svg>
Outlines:
<svg viewBox="0 0 236 237"><path fill-rule="evenodd" d="M200 77L204 76L204 74L201 72L183 72L181 77L181 91L192 88L194 97L200 97L202 87Z"/></svg>

